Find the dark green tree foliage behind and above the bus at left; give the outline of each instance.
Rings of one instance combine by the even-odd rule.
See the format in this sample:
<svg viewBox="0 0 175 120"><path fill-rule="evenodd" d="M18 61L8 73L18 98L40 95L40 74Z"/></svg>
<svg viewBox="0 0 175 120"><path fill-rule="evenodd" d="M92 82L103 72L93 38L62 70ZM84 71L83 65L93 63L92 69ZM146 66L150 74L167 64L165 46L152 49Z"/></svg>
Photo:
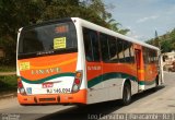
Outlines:
<svg viewBox="0 0 175 120"><path fill-rule="evenodd" d="M102 0L0 0L0 47L5 58L1 64L15 64L18 29L22 26L52 19L82 17L113 31L126 34L118 23L106 22L112 14Z"/></svg>

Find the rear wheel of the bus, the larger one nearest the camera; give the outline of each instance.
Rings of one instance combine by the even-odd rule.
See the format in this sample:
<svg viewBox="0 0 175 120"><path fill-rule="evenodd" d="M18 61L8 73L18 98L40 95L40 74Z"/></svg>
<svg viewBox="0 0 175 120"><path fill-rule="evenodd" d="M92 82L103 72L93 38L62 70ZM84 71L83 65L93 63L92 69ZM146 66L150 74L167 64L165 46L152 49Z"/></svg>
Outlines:
<svg viewBox="0 0 175 120"><path fill-rule="evenodd" d="M127 106L131 103L131 86L128 82L124 84L121 103L124 106Z"/></svg>

